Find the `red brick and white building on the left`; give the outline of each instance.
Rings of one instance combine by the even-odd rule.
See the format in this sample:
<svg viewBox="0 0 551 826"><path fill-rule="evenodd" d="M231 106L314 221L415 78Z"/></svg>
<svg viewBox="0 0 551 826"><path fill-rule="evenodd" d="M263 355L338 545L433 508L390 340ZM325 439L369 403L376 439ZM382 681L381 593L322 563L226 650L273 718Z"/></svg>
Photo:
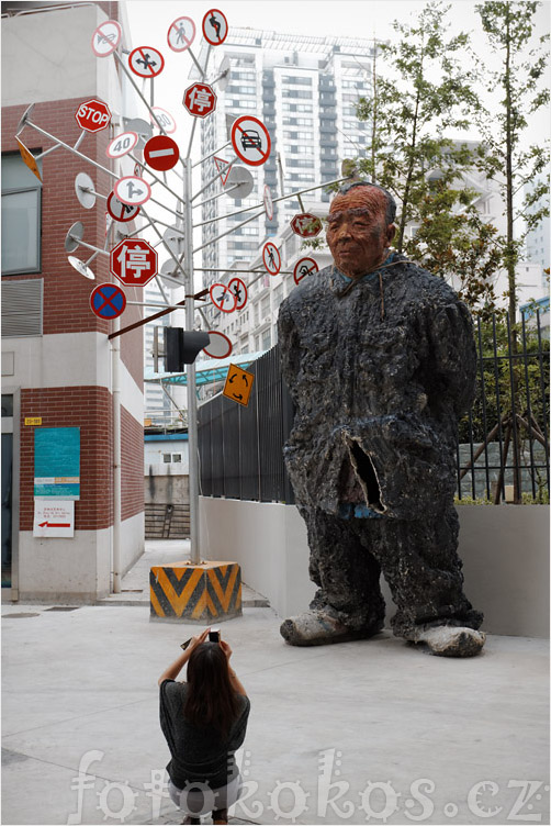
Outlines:
<svg viewBox="0 0 551 826"><path fill-rule="evenodd" d="M71 267L64 246L69 227L79 221L83 241L103 248L105 202L98 199L85 209L76 197L75 178L86 172L103 194L111 191L113 178L60 147L37 161L41 186L21 159L15 132L26 108L35 103L32 121L75 146L81 133L75 112L89 98L100 98L114 113L113 121L106 130L87 133L79 152L124 175L128 170L109 160L105 147L124 129L122 116L136 114L136 104L114 58L98 58L91 48L95 27L119 20L119 3L48 5L2 3L3 594L94 601L116 587L143 550L143 328L110 342L116 322L103 321L90 309L93 288L114 280L109 258L99 254L90 261L92 281ZM120 22L124 43L125 21ZM20 138L35 155L54 145L30 125ZM72 255L85 261L92 250L80 246ZM128 301L142 300L139 288L124 291ZM127 305L121 328L140 316L142 308ZM120 358L113 345L120 346ZM120 494L114 468L117 398ZM72 537L38 535L37 428L52 428L48 434L60 445L67 434L61 428L79 428L80 490ZM53 488L54 499L58 490ZM119 511L120 528L114 529Z"/></svg>

